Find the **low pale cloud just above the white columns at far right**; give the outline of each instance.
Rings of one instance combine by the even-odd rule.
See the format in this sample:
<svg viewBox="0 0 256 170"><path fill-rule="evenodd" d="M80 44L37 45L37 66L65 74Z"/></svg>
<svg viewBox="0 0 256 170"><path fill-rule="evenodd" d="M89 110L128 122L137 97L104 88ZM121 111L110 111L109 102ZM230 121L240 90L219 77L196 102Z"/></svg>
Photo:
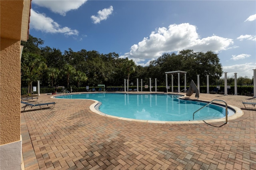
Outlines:
<svg viewBox="0 0 256 170"><path fill-rule="evenodd" d="M249 78L253 77L253 70L256 68L256 63L245 63L245 64L237 64L237 65L230 65L224 66L223 72L228 72L227 77L234 77L234 73L237 73L237 77L245 77L248 76ZM224 74L222 75L224 77Z"/></svg>

